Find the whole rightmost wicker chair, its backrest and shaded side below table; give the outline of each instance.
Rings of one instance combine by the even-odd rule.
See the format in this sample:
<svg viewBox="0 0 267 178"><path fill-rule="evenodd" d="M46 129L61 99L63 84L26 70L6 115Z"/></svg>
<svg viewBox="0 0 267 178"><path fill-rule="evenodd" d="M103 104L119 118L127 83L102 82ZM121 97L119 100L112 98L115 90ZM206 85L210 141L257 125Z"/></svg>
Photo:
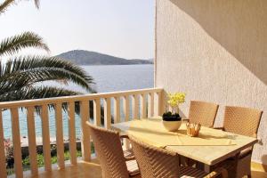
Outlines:
<svg viewBox="0 0 267 178"><path fill-rule="evenodd" d="M257 137L258 127L260 125L262 110L249 109L235 106L226 106L224 112L223 129L226 132L242 134L250 137ZM251 156L253 147L242 150L232 161L237 162L236 177L247 175L251 177ZM227 164L231 159L226 160ZM237 159L237 160L235 160Z"/></svg>

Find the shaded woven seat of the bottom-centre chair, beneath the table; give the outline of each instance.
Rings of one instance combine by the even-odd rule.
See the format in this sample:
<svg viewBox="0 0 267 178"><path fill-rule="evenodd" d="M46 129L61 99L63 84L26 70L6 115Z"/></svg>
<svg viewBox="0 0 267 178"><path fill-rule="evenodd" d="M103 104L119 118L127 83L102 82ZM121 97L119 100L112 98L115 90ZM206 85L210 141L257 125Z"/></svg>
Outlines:
<svg viewBox="0 0 267 178"><path fill-rule="evenodd" d="M182 178L202 178L205 177L207 174L205 171L190 167L190 166L180 166L180 172Z"/></svg>

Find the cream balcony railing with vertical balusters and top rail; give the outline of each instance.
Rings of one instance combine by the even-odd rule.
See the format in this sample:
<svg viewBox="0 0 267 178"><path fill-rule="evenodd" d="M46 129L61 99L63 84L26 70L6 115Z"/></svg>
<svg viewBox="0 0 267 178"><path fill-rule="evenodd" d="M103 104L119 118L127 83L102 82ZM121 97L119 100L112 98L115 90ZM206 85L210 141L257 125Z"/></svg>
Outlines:
<svg viewBox="0 0 267 178"><path fill-rule="evenodd" d="M113 103L111 103L114 101ZM122 107L121 107L121 101ZM130 101L132 104L130 104ZM77 142L76 142L76 117L75 106L78 103L80 109L81 119L81 145L83 160L91 160L91 140L90 135L85 129L85 122L89 118L93 118L94 125L101 125L101 107L103 108L104 124L109 128L111 118L114 123L121 121L121 108L124 115L124 120L130 119L130 107L132 107L132 118L145 118L161 115L163 109L163 89L152 88L115 93L96 93L79 96L68 96L59 98L49 98L30 101L8 101L0 102L0 177L7 177L6 163L4 154L4 128L2 112L6 109L11 112L12 124L12 143L14 155L14 172L16 177L23 177L23 167L21 158L20 145L20 115L19 109L27 110L27 126L28 126L28 152L30 162L30 172L32 175L38 174L37 153L36 153L36 125L35 112L38 110L41 117L42 125L42 140L43 140L43 154L44 154L44 170L52 171L51 163L51 143L50 143L50 129L49 129L49 106L53 105L55 110L55 132L57 145L57 160L58 167L63 169L65 167L64 161L64 140L63 140L63 125L62 125L62 106L68 112L69 125L69 153L70 163L77 165ZM90 115L90 103L93 103L93 116ZM114 115L111 116L111 105L114 109Z"/></svg>

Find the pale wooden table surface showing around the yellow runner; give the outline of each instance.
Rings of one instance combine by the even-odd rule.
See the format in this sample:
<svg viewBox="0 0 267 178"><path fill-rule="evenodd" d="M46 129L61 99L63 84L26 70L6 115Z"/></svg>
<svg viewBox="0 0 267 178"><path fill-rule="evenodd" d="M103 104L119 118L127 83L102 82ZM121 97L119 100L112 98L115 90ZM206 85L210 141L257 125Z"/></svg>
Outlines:
<svg viewBox="0 0 267 178"><path fill-rule="evenodd" d="M161 119L158 118L148 118L153 120L153 122L158 122L158 125L162 125ZM111 125L111 128L120 132L120 134L127 134L131 121L123 122L118 124ZM210 129L210 128L208 128ZM212 129L214 133L223 132L221 130ZM201 131L200 131L201 132ZM231 134L223 132L230 136L234 145L226 146L166 146L166 150L172 150L177 152L179 155L182 155L186 158L194 159L198 162L205 164L206 172L210 171L210 167L215 164L222 162L226 158L231 158L238 154L241 150L247 149L248 147L253 146L257 140L252 137L247 137L239 134Z"/></svg>

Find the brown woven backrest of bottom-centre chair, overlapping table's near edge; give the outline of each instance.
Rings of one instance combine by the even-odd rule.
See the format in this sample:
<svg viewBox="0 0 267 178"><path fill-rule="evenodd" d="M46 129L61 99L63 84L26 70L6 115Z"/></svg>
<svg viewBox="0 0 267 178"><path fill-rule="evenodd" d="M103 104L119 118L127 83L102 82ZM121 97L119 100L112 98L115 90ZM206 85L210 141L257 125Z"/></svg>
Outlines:
<svg viewBox="0 0 267 178"><path fill-rule="evenodd" d="M142 178L177 178L179 158L176 153L152 147L129 136Z"/></svg>

